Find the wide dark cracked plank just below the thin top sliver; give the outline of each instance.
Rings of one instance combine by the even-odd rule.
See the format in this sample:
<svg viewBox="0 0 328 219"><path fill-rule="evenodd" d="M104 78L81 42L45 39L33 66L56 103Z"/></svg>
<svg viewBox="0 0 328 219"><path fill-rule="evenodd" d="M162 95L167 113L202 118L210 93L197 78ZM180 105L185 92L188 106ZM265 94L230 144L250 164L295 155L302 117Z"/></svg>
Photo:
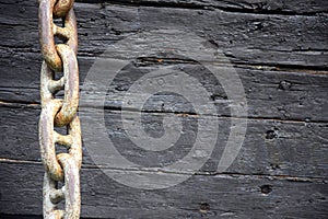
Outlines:
<svg viewBox="0 0 328 219"><path fill-rule="evenodd" d="M37 51L36 2L1 3L2 49ZM212 42L235 64L327 68L327 14L277 15L77 3L80 55L94 56L129 34L183 28ZM28 33L28 34L27 34Z"/></svg>

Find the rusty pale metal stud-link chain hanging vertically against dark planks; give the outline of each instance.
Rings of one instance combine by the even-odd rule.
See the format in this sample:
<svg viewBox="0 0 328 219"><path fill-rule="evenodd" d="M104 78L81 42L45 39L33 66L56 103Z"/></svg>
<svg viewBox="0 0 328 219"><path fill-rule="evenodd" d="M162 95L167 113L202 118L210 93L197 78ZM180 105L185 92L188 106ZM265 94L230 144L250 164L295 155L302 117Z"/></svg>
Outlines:
<svg viewBox="0 0 328 219"><path fill-rule="evenodd" d="M45 166L44 218L80 218L80 169L82 162L81 127L77 115L79 105L78 33L73 0L38 0L39 43L43 54L40 70L42 113L39 146ZM54 23L62 20L62 26ZM62 44L55 44L55 36ZM63 72L55 80L58 72ZM63 99L57 92L63 90ZM55 130L63 129L65 135ZM62 132L62 131L61 131ZM57 147L67 152L56 153ZM62 185L59 188L59 185ZM58 204L65 200L65 209Z"/></svg>

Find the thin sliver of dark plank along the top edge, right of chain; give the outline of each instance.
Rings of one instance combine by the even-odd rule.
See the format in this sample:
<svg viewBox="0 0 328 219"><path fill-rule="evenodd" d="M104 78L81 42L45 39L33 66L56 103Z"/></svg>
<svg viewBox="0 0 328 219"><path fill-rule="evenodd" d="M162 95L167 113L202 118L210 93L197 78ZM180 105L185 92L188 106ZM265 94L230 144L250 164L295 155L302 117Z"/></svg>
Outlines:
<svg viewBox="0 0 328 219"><path fill-rule="evenodd" d="M87 3L124 3L137 5L153 5L168 8L203 9L213 7L226 11L248 13L277 13L277 14L313 14L327 12L327 1L314 0L78 0Z"/></svg>

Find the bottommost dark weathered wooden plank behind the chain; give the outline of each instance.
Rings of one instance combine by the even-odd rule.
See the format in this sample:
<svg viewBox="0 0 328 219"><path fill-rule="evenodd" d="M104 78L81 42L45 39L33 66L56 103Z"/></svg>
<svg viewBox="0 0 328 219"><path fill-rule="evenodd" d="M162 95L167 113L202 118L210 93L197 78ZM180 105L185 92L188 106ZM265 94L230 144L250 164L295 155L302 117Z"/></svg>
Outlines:
<svg viewBox="0 0 328 219"><path fill-rule="evenodd" d="M40 216L43 166L2 162L0 172L0 214ZM166 189L144 191L120 185L98 169L82 169L81 182L82 218L319 219L328 214L327 184L319 181L195 175Z"/></svg>

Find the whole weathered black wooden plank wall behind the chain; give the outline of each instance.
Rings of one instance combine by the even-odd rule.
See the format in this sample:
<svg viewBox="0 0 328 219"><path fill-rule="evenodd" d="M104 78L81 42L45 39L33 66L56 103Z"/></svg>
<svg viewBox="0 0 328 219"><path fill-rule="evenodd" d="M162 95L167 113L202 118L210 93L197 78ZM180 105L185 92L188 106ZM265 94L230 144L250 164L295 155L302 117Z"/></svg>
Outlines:
<svg viewBox="0 0 328 219"><path fill-rule="evenodd" d="M214 150L195 176L166 189L120 185L97 169L85 150L82 218L328 217L328 1L80 0L74 8L81 82L107 45L142 31L190 30L230 58L245 88L249 116L245 142L232 166L218 173L220 151ZM42 57L36 1L0 0L0 218L40 218ZM122 58L119 53L117 57ZM127 76L159 65L196 66L169 58L157 62L157 58L138 60ZM126 92L124 83L109 92ZM220 102L224 95L219 89L211 101ZM161 111L159 100L166 104ZM157 95L149 107L149 124L161 122L167 113L192 114L187 103L169 94ZM124 138L115 94L105 108L108 134ZM229 111L222 107L219 114L222 127L229 125ZM221 130L222 142L227 131ZM131 157L128 143L120 147L122 154ZM131 157L137 163L167 161L152 154L154 161L147 163L139 152Z"/></svg>

